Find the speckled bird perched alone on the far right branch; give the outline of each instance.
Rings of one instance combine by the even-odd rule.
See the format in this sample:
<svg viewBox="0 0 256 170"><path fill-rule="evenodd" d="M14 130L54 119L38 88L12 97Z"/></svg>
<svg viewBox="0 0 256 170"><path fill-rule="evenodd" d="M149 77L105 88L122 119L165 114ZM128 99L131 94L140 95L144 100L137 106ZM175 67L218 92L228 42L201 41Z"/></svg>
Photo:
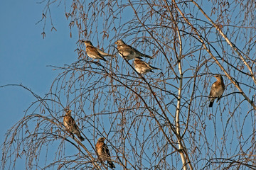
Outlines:
<svg viewBox="0 0 256 170"><path fill-rule="evenodd" d="M217 81L215 81L210 88L210 95L209 95L209 98L210 98L209 107L210 108L213 107L213 102L214 102L215 98L218 98L217 99L217 102L218 102L225 90L225 84L223 81L223 77L221 77L220 74L217 74L213 77L215 77L217 79Z"/></svg>

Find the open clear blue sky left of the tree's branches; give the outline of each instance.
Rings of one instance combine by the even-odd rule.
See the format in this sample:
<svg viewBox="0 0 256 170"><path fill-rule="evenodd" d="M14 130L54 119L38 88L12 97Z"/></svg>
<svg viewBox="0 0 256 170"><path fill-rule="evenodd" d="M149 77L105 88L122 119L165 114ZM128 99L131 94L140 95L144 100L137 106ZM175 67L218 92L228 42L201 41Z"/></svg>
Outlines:
<svg viewBox="0 0 256 170"><path fill-rule="evenodd" d="M63 66L77 60L74 52L77 38L69 37L68 21L61 11L63 8L56 5L52 15L57 32L50 31L48 19L46 38L43 39L43 23L36 25L42 17L42 4L33 0L0 2L0 86L23 84L44 96L58 74L47 65ZM0 88L1 144L6 131L23 118L24 111L33 101L35 98L20 87Z"/></svg>

